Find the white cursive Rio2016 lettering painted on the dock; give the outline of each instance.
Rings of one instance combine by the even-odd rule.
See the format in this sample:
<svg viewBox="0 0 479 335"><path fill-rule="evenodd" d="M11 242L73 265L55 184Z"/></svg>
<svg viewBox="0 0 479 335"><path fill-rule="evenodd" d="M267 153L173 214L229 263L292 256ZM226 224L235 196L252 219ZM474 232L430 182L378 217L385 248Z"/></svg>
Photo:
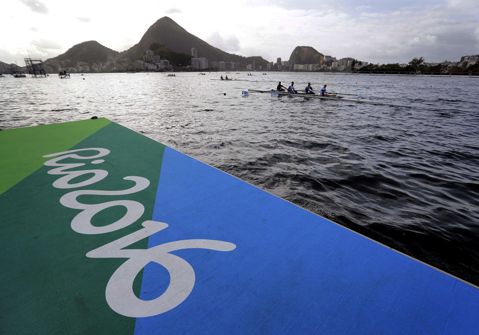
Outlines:
<svg viewBox="0 0 479 335"><path fill-rule="evenodd" d="M93 156L73 154L81 151L95 151L97 154ZM68 189L94 184L105 178L108 175L108 171L103 169L69 171L71 168L84 166L85 163L61 163L62 160L67 158L93 160L90 162L91 164L100 164L104 160L98 160L98 158L104 157L109 153L110 151L104 148L85 148L45 155L43 157L55 157L44 163L45 166L55 167L50 169L48 174L63 175L53 182L53 186ZM82 174L93 174L93 176L81 182L69 183L70 180ZM77 197L80 195L124 195L139 192L150 185L150 181L147 178L140 176L126 176L123 179L131 180L135 182L135 185L131 188L117 191L84 189L64 194L60 198L60 203L63 206L81 209L71 220L71 228L80 234L103 234L124 228L136 222L145 210L143 205L137 201L115 200L98 204L85 204L77 201ZM101 227L91 224L91 219L95 214L113 206L123 206L126 208L127 211L121 219ZM151 317L168 312L180 305L190 295L195 285L195 271L187 261L170 254L170 252L192 248L231 251L236 248L236 245L230 242L194 239L164 243L149 249L123 249L167 228L168 224L148 220L144 221L142 226L142 229L91 250L86 254L90 258L128 258L113 273L105 290L106 301L110 308L127 317ZM170 273L170 284L160 297L146 301L136 297L133 292L133 281L149 262L156 262L168 270Z"/></svg>

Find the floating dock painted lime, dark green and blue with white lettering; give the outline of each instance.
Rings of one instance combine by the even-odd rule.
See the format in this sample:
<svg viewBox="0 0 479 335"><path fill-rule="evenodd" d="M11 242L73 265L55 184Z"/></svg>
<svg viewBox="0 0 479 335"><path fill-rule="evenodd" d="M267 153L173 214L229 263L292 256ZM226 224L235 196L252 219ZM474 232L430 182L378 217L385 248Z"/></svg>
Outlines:
<svg viewBox="0 0 479 335"><path fill-rule="evenodd" d="M0 157L2 334L479 333L477 287L109 120Z"/></svg>

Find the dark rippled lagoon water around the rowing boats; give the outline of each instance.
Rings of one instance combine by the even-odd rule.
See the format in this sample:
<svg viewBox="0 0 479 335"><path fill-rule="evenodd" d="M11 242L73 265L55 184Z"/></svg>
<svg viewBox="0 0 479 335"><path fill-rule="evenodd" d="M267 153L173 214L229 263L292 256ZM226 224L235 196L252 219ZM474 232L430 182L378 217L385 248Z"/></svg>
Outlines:
<svg viewBox="0 0 479 335"><path fill-rule="evenodd" d="M479 285L479 78L221 74L7 76L0 129L105 117ZM386 105L241 96L291 80Z"/></svg>

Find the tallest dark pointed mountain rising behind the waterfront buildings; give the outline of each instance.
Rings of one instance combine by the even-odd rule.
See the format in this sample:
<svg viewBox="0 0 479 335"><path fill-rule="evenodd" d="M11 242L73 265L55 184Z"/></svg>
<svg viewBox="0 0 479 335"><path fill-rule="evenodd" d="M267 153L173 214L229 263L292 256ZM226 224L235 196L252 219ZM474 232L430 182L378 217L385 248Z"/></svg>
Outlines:
<svg viewBox="0 0 479 335"><path fill-rule="evenodd" d="M256 65L261 66L268 63L267 60L259 56L243 57L220 50L189 33L168 16L164 16L153 23L140 41L125 52L125 56L132 60L141 59L152 43L162 44L173 51L187 55L191 55L191 48L196 48L198 56L208 58L209 63L230 61L246 65L251 64L252 60L255 61Z"/></svg>

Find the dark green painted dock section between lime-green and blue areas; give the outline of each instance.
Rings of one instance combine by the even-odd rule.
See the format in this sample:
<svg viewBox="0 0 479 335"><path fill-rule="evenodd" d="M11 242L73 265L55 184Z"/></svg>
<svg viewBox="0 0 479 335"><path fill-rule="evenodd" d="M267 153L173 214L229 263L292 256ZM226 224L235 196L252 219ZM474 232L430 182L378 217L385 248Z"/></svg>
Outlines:
<svg viewBox="0 0 479 335"><path fill-rule="evenodd" d="M70 124L60 126L57 131L62 133L63 127L74 128ZM145 177L150 185L124 195L85 194L78 201L92 204L131 200L141 203L145 211L134 223L112 232L78 233L70 224L80 211L59 202L61 196L78 188L53 187L59 175L48 174L52 167L46 166L0 194L0 334L134 334L136 319L114 312L105 299L110 277L127 259L88 258L86 254L138 231L143 221L151 220L165 146L111 122L68 149L84 148L107 148L111 153L102 158L103 163L93 166L84 161L85 167L76 168L108 171L104 179L81 189L128 189L134 182L123 179L126 176ZM36 153L29 158L58 151ZM73 159L65 161L78 163ZM123 206L104 209L93 216L91 224L108 225L125 213ZM145 238L126 249L147 247ZM141 278L142 273L133 282L137 296Z"/></svg>

